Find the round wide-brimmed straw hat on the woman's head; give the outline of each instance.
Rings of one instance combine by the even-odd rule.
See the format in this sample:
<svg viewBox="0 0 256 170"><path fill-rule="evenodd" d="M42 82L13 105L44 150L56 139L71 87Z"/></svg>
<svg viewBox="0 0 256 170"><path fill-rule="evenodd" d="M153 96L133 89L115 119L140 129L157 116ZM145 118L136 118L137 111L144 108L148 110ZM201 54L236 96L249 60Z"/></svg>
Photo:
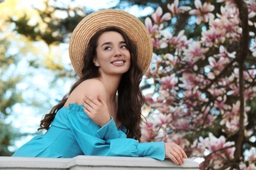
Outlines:
<svg viewBox="0 0 256 170"><path fill-rule="evenodd" d="M137 46L138 63L146 73L152 58L152 41L145 25L135 16L116 9L100 10L87 15L75 27L70 39L70 60L78 76L82 76L83 56L95 33L106 27L118 27Z"/></svg>

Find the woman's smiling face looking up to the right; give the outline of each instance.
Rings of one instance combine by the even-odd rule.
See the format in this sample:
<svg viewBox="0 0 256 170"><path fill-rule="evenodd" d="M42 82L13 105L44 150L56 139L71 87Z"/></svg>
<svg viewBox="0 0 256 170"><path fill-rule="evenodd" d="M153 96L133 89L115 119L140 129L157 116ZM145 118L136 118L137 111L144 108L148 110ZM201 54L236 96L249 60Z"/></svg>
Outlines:
<svg viewBox="0 0 256 170"><path fill-rule="evenodd" d="M129 70L131 55L120 33L107 31L100 35L94 63L101 75L120 75Z"/></svg>

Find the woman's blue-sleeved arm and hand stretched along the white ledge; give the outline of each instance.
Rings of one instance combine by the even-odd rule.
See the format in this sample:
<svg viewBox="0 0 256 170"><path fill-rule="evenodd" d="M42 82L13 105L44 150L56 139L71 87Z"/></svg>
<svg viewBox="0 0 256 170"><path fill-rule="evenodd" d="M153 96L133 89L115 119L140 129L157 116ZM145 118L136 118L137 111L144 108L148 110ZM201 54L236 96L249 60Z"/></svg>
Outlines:
<svg viewBox="0 0 256 170"><path fill-rule="evenodd" d="M184 150L175 143L138 143L135 139L125 138L125 133L117 128L117 136L119 137L104 140L98 137L98 135L95 135L95 133L97 134L104 126L96 126L95 122L93 122L83 110L79 112L72 112L71 110L69 118L70 129L74 133L75 139L85 155L141 156L158 160L164 160L165 156L167 156L174 163L179 163L180 165L183 162L183 158L186 158ZM87 122L87 124L84 122ZM106 126L108 126L108 124L106 124ZM109 132L112 133L112 131Z"/></svg>

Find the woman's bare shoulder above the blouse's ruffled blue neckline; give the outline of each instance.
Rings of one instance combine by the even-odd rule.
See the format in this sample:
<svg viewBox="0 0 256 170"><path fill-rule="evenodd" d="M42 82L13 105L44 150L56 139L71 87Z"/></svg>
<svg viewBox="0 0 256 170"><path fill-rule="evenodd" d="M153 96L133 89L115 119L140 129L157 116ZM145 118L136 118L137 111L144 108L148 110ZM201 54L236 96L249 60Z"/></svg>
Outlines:
<svg viewBox="0 0 256 170"><path fill-rule="evenodd" d="M79 105L83 104L83 98L85 95L96 98L101 95L104 101L106 101L106 88L100 80L92 78L85 80L79 84L74 91L68 97L68 103L77 103ZM65 104L66 105L66 104Z"/></svg>

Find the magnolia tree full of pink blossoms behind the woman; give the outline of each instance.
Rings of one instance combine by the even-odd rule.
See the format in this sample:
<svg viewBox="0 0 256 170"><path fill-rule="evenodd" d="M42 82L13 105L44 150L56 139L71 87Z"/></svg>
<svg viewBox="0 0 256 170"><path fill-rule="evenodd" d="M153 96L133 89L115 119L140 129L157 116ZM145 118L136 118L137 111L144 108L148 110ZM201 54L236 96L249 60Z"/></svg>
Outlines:
<svg viewBox="0 0 256 170"><path fill-rule="evenodd" d="M154 88L144 91L142 141L173 141L201 157L201 169L256 169L256 3L214 3L175 0L146 18L154 54L145 84Z"/></svg>

